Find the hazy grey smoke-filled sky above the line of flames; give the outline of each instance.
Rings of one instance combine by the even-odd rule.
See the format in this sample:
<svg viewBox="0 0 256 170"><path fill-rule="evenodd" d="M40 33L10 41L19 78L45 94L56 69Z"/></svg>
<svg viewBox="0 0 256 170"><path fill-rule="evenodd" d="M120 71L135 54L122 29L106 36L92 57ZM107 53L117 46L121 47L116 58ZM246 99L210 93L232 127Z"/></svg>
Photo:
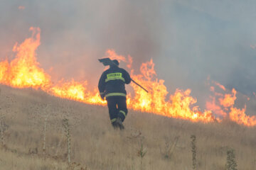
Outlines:
<svg viewBox="0 0 256 170"><path fill-rule="evenodd" d="M134 68L151 58L169 91L192 89L204 100L206 79L243 94L256 91L256 1L1 0L0 57L41 28L38 61L54 79L90 79L107 49L131 55ZM122 63L121 63L122 66ZM123 64L124 66L124 64Z"/></svg>

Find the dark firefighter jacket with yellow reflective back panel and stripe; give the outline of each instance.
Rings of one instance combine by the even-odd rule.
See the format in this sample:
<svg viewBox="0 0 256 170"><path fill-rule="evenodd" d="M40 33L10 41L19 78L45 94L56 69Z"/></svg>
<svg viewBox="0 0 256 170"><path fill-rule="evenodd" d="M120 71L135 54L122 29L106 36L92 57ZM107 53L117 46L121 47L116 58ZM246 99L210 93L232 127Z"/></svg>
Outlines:
<svg viewBox="0 0 256 170"><path fill-rule="evenodd" d="M118 66L111 66L102 73L99 81L100 95L109 96L126 96L124 84L129 84L131 77L125 69Z"/></svg>

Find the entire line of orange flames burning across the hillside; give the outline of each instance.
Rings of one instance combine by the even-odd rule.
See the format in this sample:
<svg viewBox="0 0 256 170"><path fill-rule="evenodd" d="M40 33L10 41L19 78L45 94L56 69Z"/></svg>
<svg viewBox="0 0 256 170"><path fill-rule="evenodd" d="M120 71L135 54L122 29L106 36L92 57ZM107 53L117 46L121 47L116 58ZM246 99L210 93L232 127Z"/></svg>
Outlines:
<svg viewBox="0 0 256 170"><path fill-rule="evenodd" d="M31 38L27 38L20 45L14 45L13 51L16 52L14 60L0 62L1 84L16 88L42 89L48 94L60 98L69 98L88 104L106 105L106 101L102 101L100 98L97 87L92 91L88 90L87 81L62 79L57 84L53 84L50 75L41 69L40 64L36 62L36 49L40 45L41 30L40 28L30 28L30 30L32 31ZM213 92L214 96L210 96L211 101L206 103L208 110L201 111L196 106L196 98L191 96L191 89L185 91L176 89L174 94L169 94L164 80L157 78L153 60L142 64L140 74L134 74L131 56L128 55L126 58L117 55L114 50L107 50L105 57L125 62L127 67L131 69L132 79L149 90L149 93L146 93L136 84L131 84L134 94L127 95L127 105L135 111L155 113L193 122L220 122L220 118L215 118L213 115L215 113L223 117L229 115L230 120L242 125L256 125L255 116L246 115L245 108L234 107L237 93L235 89L232 90L231 94L217 93L215 92L216 88L222 89L224 92L228 90L225 89L225 86L213 81L210 91Z"/></svg>

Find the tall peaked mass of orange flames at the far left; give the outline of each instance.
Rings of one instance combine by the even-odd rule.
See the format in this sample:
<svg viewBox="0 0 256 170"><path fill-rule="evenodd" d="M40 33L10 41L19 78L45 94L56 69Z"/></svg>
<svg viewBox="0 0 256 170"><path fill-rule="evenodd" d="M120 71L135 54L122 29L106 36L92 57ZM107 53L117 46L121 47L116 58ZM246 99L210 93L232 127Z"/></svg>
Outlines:
<svg viewBox="0 0 256 170"><path fill-rule="evenodd" d="M40 45L40 29L30 28L32 37L27 38L21 45L14 45L16 58L9 63L1 62L0 83L9 86L35 89L48 89L50 76L36 62L36 49Z"/></svg>

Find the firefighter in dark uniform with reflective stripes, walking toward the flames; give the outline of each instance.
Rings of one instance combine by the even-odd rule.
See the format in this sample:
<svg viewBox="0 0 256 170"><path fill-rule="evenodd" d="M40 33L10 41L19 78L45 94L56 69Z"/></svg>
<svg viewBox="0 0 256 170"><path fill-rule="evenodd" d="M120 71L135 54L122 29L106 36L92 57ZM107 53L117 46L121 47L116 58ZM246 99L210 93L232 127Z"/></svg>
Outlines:
<svg viewBox="0 0 256 170"><path fill-rule="evenodd" d="M129 84L131 77L125 69L119 68L119 62L112 60L110 68L102 73L99 81L99 91L102 100L107 100L110 113L110 121L114 128L124 129L125 117L127 116L127 103L124 84Z"/></svg>

